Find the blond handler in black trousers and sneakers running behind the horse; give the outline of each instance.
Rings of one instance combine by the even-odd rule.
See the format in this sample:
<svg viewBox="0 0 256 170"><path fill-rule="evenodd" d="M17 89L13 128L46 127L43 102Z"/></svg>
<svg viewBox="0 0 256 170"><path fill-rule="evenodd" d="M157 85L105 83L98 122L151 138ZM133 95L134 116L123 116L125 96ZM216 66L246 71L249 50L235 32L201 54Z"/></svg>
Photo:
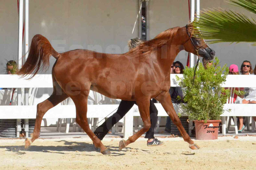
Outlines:
<svg viewBox="0 0 256 170"><path fill-rule="evenodd" d="M133 47L136 47L143 41L140 38L134 38L128 41L128 45L130 49ZM97 127L97 129L94 131L94 134L102 140L105 135L107 135L108 131L116 124L119 120L121 120L124 115L133 107L133 105L137 103L135 101L124 101L122 100L118 106L118 109L116 113L111 115L101 126ZM150 113L150 120L151 120L151 127L146 132L145 138L148 138L147 146L160 146L163 145L163 142L156 139L154 137L154 130L157 125L157 114L158 110L152 100L150 100L150 106L149 106L149 113Z"/></svg>

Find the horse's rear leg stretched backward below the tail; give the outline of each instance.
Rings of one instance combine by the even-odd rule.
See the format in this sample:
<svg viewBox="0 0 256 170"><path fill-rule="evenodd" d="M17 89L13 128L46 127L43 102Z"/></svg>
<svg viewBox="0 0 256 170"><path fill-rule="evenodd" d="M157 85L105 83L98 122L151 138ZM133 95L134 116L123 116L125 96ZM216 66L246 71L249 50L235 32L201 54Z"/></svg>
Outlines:
<svg viewBox="0 0 256 170"><path fill-rule="evenodd" d="M68 98L68 95L65 92L63 92L63 90L60 88L57 82L54 82L53 94L48 99L46 99L45 101L37 105L35 129L31 134L31 139L27 138L25 140L25 148L28 148L30 144L39 137L41 122L44 114L49 109L53 108L54 106L56 106L57 104L65 100L66 98Z"/></svg>

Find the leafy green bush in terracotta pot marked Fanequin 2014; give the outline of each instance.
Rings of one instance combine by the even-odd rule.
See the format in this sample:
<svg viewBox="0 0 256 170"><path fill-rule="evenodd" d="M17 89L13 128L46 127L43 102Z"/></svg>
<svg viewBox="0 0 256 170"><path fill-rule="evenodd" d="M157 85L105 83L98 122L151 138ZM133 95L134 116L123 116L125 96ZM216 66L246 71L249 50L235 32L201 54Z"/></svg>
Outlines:
<svg viewBox="0 0 256 170"><path fill-rule="evenodd" d="M226 81L229 68L220 67L218 58L205 69L200 63L194 78L194 67L184 69L183 78L176 76L179 86L184 93L182 105L189 120L196 126L196 139L217 139L220 115L223 113L224 103L229 97L230 90L221 87Z"/></svg>

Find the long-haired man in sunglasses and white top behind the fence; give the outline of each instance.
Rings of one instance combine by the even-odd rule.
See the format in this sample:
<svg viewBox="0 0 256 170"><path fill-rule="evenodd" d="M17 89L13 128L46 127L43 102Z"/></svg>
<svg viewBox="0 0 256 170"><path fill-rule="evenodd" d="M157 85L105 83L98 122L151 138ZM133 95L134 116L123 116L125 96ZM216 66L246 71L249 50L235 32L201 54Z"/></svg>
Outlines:
<svg viewBox="0 0 256 170"><path fill-rule="evenodd" d="M245 60L242 62L240 72L242 75L250 75L253 73L253 69L251 67L251 62ZM242 100L242 103L256 103L256 88L244 88L245 98ZM239 127L238 132L242 132L245 128L245 121L243 117L239 118Z"/></svg>

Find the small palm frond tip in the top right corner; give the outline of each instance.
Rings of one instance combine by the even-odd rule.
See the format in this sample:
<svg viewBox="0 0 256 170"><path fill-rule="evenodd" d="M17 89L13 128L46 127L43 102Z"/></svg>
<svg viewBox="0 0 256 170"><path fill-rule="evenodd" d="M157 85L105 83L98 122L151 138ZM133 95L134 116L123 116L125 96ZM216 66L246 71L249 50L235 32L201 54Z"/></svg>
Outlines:
<svg viewBox="0 0 256 170"><path fill-rule="evenodd" d="M228 0L226 2L256 13L256 0Z"/></svg>

